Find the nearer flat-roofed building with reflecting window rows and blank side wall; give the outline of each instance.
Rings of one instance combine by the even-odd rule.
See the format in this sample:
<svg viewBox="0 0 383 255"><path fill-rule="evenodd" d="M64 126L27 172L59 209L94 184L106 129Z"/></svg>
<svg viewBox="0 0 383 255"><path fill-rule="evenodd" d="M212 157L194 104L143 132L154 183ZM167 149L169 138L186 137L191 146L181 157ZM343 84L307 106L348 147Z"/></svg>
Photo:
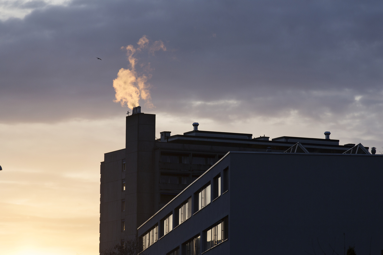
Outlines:
<svg viewBox="0 0 383 255"><path fill-rule="evenodd" d="M378 255L382 160L231 151L138 228L139 254Z"/></svg>

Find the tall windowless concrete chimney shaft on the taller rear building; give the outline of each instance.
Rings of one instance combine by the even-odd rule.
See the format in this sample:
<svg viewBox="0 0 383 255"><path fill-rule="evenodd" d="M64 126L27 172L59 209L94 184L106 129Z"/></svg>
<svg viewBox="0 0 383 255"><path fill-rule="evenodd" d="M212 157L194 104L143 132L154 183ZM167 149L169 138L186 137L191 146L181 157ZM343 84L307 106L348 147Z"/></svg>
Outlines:
<svg viewBox="0 0 383 255"><path fill-rule="evenodd" d="M154 140L154 114L141 113L126 117L125 234L127 238L134 238L137 227L157 210L153 203Z"/></svg>

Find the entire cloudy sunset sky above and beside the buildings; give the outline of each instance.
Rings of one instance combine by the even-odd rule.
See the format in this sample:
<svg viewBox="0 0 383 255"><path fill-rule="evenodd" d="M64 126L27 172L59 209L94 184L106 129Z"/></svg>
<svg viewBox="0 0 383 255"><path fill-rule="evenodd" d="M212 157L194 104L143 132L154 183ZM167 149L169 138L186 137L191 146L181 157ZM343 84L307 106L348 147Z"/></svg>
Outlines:
<svg viewBox="0 0 383 255"><path fill-rule="evenodd" d="M157 137L198 122L383 151L381 24L380 0L0 0L0 249L98 254L128 106Z"/></svg>

